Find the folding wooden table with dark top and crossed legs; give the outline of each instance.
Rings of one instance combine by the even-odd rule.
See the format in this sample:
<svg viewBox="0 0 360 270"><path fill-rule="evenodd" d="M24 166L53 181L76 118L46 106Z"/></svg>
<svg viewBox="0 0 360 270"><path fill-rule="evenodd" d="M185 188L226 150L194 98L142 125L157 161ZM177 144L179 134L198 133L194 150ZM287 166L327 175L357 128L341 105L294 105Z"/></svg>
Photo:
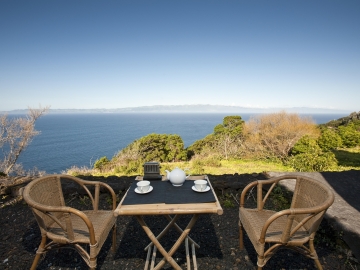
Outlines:
<svg viewBox="0 0 360 270"><path fill-rule="evenodd" d="M192 190L194 180L197 179L206 179L208 181L208 185L210 186L210 190L203 193ZM142 180L142 177L138 176L136 177L136 180L140 181ZM174 187L169 181L150 181L153 190L147 194L137 194L135 192L137 181L132 183L114 213L115 216L135 216L147 236L150 238L151 243L145 247L145 250L148 251L145 269L148 269L149 264L150 269L161 269L166 262L168 262L174 269L181 269L172 256L184 240L187 269L191 269L189 242L192 247L194 269L197 269L195 247L199 248L199 245L195 243L188 234L195 225L199 214L223 214L223 209L221 208L219 200L211 186L209 178L206 175L191 176L181 187ZM155 236L149 226L145 223L143 219L144 215L163 215L168 219L169 224L158 236ZM180 215L193 215L184 230L176 224ZM181 235L173 247L169 251L166 251L160 244L159 240L171 227L175 227ZM151 248L153 248L153 256L150 263ZM154 266L156 250L159 250L164 258L156 266Z"/></svg>

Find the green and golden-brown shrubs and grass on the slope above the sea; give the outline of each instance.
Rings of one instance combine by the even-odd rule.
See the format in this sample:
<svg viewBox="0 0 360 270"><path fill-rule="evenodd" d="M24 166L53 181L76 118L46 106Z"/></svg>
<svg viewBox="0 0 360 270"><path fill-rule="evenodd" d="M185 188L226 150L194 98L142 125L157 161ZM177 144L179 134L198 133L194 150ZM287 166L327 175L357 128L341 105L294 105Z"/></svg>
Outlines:
<svg viewBox="0 0 360 270"><path fill-rule="evenodd" d="M323 125L286 112L248 122L241 116L226 116L213 133L187 148L179 135L149 134L87 170L102 175L142 174L148 161L161 162L162 171L177 166L190 168L192 174L360 169L359 149L360 113ZM86 173L78 170L69 172Z"/></svg>

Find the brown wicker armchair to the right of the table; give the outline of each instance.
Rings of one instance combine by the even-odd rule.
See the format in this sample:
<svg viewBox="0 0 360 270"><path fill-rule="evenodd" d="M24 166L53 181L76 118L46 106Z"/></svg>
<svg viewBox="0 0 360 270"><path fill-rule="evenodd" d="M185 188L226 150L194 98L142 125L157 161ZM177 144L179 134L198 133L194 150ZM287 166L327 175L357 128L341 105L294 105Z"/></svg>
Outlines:
<svg viewBox="0 0 360 270"><path fill-rule="evenodd" d="M263 209L273 188L280 180L285 179L296 181L290 208L280 212ZM270 184L263 197L264 185ZM257 186L257 208L245 208L245 195L248 191L252 192L255 186ZM309 177L283 175L250 183L244 188L240 198L240 249L244 248L243 227L258 254L258 269L262 269L275 251L281 247L294 249L312 258L317 268L322 269L314 248L314 236L327 208L333 202L334 193L331 189ZM305 246L306 243L309 243L309 247Z"/></svg>

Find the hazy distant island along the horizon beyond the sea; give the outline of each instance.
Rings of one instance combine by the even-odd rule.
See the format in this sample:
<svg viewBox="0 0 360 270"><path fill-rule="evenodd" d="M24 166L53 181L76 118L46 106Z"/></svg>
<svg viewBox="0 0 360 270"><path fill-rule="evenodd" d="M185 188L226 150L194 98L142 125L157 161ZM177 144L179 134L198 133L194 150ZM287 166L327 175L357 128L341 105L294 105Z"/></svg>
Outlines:
<svg viewBox="0 0 360 270"><path fill-rule="evenodd" d="M154 105L142 107L129 107L117 109L50 109L51 114L75 114L75 113L273 113L286 111L299 114L350 114L350 110L291 107L291 108L249 108L225 105ZM0 114L25 114L27 109L2 111Z"/></svg>

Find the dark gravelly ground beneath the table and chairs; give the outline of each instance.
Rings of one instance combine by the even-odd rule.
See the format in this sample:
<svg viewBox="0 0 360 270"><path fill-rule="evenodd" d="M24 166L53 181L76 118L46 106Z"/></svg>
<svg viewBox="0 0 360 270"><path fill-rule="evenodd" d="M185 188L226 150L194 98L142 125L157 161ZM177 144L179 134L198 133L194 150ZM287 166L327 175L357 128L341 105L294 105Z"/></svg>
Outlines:
<svg viewBox="0 0 360 270"><path fill-rule="evenodd" d="M238 205L230 196L218 194L222 200L224 214L202 215L192 229L191 237L200 245L197 252L198 269L256 269L256 253L245 234L245 248L239 250ZM80 195L66 199L74 207L86 207L87 201ZM249 199L251 201L251 198ZM103 198L106 204L106 197ZM252 203L250 202L249 203ZM228 205L229 207L224 207ZM20 202L0 209L0 269L29 269L40 243L38 225L26 204ZM163 217L148 216L145 221L155 234L167 224ZM178 224L184 228L189 221L184 216ZM168 250L177 239L178 232L170 232L160 242ZM339 232L323 220L316 236L316 250L324 269L360 269L346 248ZM170 240L169 240L170 239ZM119 217L117 220L117 250L110 251L108 238L98 257L97 269L143 269L146 252L144 247L149 239L133 217ZM186 269L185 250L182 246L173 256L183 269ZM158 258L161 256L158 254ZM71 249L48 252L41 259L38 269L87 269L81 257ZM172 269L168 264L164 269ZM313 261L293 251L282 250L266 264L266 269L315 269Z"/></svg>

